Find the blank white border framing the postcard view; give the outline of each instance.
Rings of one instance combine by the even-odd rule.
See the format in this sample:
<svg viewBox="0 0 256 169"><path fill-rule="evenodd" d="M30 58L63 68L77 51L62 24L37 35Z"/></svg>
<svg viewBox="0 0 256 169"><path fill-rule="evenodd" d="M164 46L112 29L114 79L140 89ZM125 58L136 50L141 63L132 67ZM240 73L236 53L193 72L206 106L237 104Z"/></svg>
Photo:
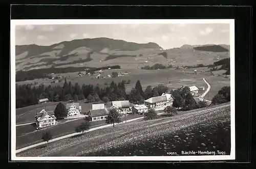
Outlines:
<svg viewBox="0 0 256 169"><path fill-rule="evenodd" d="M214 156L101 156L101 157L16 157L16 116L15 116L15 26L40 24L191 24L228 23L230 25L230 155ZM235 109L234 109L234 19L22 19L11 20L11 159L13 161L201 161L234 160L236 158ZM10 152L9 152L10 153Z"/></svg>

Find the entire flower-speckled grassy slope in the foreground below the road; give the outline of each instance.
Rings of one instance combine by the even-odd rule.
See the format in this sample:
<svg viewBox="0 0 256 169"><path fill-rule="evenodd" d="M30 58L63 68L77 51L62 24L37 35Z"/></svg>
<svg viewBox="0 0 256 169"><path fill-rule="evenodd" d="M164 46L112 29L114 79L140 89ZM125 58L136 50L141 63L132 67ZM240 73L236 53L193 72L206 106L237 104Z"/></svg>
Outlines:
<svg viewBox="0 0 256 169"><path fill-rule="evenodd" d="M184 150L187 149L187 145L184 144L184 138L180 138L184 136L182 132L185 130L188 131L186 134L190 135L190 140L186 141L190 142L190 145L188 145L191 148L190 150L196 149L198 145L205 147L205 150L207 150L209 148L208 144L212 143L210 145L212 148L214 146L220 148L224 145L223 147L227 148L227 150L219 150L227 151L226 154L228 154L228 149L230 148L229 119L230 103L208 109L190 111L184 115L175 117L161 118L153 121L135 121L115 127L103 128L81 136L62 139L50 143L46 147L20 152L16 156L133 156L138 155L138 153L139 155L166 155L166 152L177 152L181 148ZM220 130L218 128L220 126L219 122L223 122L227 128L222 127L223 129ZM204 126L206 129L202 130L203 135L196 133L200 132L198 129ZM208 133L209 129L212 129L212 131L210 130L212 136L204 136ZM225 130L226 137L219 139L219 136L223 136L219 132L223 132L223 130ZM173 142L170 142L170 140L173 140ZM149 144L149 146L145 146L145 143ZM180 143L182 146L177 149L176 145ZM164 146L167 147L165 151ZM160 151L161 149L163 149L163 152ZM202 149L200 150L202 151Z"/></svg>

